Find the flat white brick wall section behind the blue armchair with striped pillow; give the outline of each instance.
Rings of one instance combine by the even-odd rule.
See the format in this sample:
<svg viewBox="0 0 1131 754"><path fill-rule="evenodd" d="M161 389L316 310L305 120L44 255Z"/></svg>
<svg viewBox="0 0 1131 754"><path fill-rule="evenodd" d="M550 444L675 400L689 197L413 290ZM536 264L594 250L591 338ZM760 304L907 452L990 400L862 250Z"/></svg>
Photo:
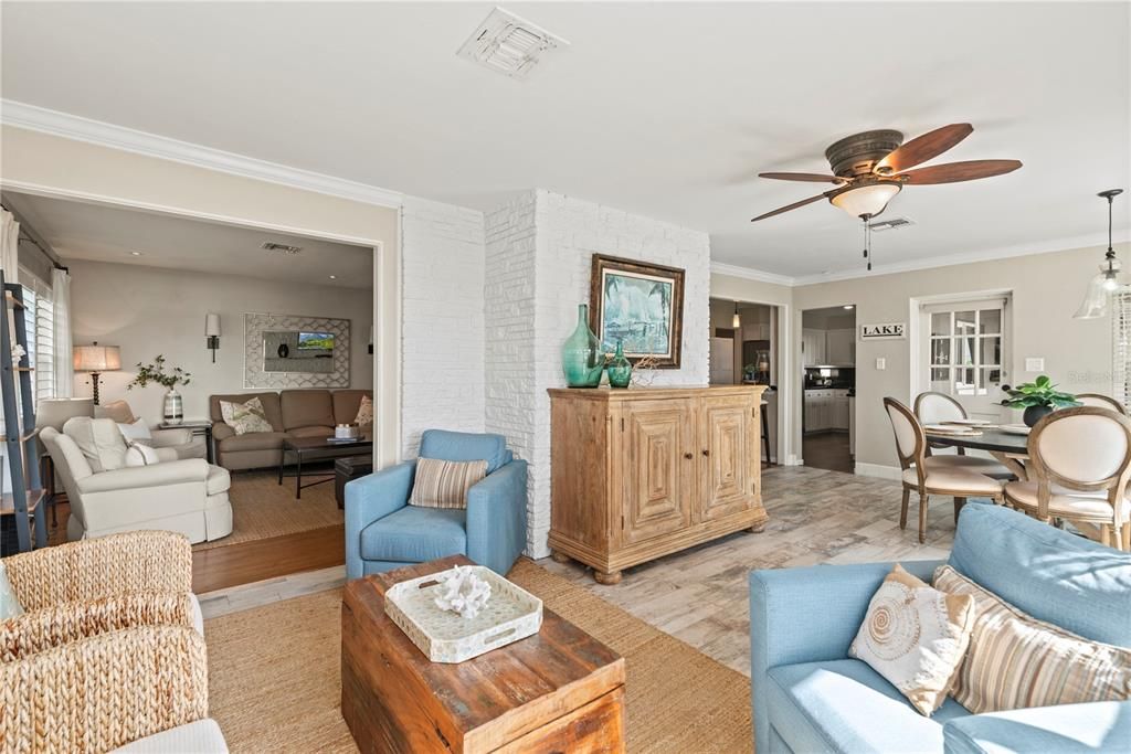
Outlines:
<svg viewBox="0 0 1131 754"><path fill-rule="evenodd" d="M402 442L421 432L482 432L483 214L406 197L402 239Z"/></svg>

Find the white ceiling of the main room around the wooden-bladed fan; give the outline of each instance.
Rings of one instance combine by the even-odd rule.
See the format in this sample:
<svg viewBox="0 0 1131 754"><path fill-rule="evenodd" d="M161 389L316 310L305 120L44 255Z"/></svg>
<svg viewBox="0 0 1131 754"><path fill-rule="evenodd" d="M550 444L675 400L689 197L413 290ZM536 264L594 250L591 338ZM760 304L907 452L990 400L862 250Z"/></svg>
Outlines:
<svg viewBox="0 0 1131 754"><path fill-rule="evenodd" d="M3 3L5 97L490 209L541 187L708 231L716 261L858 268L824 147L969 121L949 159L1010 175L909 187L891 263L1098 242L1131 188L1126 2L513 3L571 42L526 81L456 57L490 3ZM1116 205L1131 226L1131 199Z"/></svg>

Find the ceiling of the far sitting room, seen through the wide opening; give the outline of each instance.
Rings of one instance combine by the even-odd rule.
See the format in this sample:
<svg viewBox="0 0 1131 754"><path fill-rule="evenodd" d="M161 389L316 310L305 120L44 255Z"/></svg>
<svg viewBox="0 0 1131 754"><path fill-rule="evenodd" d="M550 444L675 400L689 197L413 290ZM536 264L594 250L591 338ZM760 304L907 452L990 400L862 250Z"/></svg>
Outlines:
<svg viewBox="0 0 1131 754"><path fill-rule="evenodd" d="M3 202L64 263L86 259L305 285L373 287L372 249L10 191L3 193ZM265 241L302 251L294 255L266 251L260 248Z"/></svg>

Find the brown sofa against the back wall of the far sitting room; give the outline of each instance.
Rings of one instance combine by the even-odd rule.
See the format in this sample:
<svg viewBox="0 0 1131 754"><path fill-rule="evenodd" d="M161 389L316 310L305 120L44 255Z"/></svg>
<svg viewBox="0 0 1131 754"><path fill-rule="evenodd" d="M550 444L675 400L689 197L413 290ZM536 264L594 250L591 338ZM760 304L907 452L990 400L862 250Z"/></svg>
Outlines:
<svg viewBox="0 0 1131 754"><path fill-rule="evenodd" d="M286 437L328 437L337 424L353 424L362 396L372 390L283 390L282 392L240 392L208 398L216 443L216 463L226 469L257 469L278 466ZM242 404L259 398L274 432L236 435L219 410L219 401Z"/></svg>

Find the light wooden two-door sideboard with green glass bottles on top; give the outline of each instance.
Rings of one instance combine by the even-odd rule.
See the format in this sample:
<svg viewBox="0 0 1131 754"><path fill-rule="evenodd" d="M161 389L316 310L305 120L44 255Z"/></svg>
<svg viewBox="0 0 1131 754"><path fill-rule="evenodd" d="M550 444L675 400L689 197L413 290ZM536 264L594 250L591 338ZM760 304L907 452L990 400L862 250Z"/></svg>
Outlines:
<svg viewBox="0 0 1131 754"><path fill-rule="evenodd" d="M621 570L761 531L765 387L551 389L554 558Z"/></svg>

